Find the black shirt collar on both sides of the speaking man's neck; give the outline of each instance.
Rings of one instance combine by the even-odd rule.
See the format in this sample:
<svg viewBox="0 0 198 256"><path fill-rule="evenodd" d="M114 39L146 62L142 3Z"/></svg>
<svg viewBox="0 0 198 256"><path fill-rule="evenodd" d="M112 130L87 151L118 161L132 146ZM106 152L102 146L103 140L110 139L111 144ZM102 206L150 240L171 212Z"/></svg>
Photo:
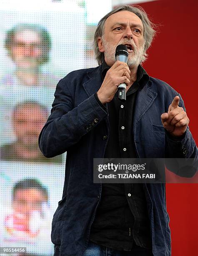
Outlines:
<svg viewBox="0 0 198 256"><path fill-rule="evenodd" d="M102 64L102 72L101 72L101 76L102 79L104 80L105 75L108 71L108 69L110 69L110 67L106 64L105 61L103 61ZM137 71L137 80L136 80L139 85L140 85L140 90L145 86L145 84L147 84L147 82L149 81L149 75L147 74L147 72L145 71L145 69L139 65L138 66L138 71Z"/></svg>

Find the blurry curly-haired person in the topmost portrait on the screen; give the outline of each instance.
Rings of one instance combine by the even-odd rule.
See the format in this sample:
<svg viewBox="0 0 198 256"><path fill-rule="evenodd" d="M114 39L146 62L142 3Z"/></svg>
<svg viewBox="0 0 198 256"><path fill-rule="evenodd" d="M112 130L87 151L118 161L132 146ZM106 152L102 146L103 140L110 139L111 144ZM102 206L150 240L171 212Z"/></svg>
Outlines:
<svg viewBox="0 0 198 256"><path fill-rule="evenodd" d="M40 70L49 61L51 49L50 34L45 28L23 23L14 26L6 34L5 49L16 68L1 79L1 84L16 88L54 86L56 77Z"/></svg>

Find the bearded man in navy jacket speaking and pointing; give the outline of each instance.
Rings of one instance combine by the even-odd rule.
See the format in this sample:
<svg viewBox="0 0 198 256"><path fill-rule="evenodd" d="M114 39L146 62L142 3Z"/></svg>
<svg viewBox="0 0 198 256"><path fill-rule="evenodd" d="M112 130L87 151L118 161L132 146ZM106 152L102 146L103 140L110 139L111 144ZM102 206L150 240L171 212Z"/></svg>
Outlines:
<svg viewBox="0 0 198 256"><path fill-rule="evenodd" d="M46 157L67 151L52 223L55 256L170 256L165 184L93 183L93 158L198 158L180 95L140 66L154 33L142 9L114 9L95 32L100 66L57 85L39 137ZM128 47L127 64L115 61L119 44ZM126 102L116 93L121 83Z"/></svg>

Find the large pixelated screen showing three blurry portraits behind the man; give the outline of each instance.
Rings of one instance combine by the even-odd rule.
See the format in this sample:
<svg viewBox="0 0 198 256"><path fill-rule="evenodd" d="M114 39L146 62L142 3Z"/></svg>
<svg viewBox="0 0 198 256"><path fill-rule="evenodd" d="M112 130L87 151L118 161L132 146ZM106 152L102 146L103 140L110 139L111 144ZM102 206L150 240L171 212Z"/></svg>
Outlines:
<svg viewBox="0 0 198 256"><path fill-rule="evenodd" d="M53 255L51 223L62 198L66 153L45 158L38 136L58 81L98 65L93 36L110 11L110 0L105 3L97 10L90 0L1 3L0 247L27 249L10 255Z"/></svg>

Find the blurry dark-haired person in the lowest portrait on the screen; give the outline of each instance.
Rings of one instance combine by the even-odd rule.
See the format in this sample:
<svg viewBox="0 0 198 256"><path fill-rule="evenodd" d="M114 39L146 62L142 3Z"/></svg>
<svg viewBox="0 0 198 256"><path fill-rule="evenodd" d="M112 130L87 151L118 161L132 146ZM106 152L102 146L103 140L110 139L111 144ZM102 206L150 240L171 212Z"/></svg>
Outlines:
<svg viewBox="0 0 198 256"><path fill-rule="evenodd" d="M19 180L12 189L12 211L4 219L4 246L26 248L17 255L50 255L50 217L48 189L35 178Z"/></svg>

